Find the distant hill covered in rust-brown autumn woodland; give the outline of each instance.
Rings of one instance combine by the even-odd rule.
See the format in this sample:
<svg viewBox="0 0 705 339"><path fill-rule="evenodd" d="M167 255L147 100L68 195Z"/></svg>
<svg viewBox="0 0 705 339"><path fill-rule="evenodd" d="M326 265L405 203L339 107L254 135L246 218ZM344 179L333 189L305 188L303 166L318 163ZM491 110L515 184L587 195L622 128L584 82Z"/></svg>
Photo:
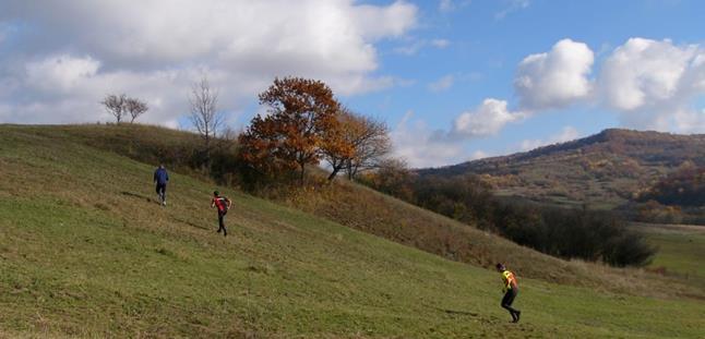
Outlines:
<svg viewBox="0 0 705 339"><path fill-rule="evenodd" d="M614 208L685 162L705 165L705 135L605 130L527 153L464 162L421 174L482 174L500 195Z"/></svg>

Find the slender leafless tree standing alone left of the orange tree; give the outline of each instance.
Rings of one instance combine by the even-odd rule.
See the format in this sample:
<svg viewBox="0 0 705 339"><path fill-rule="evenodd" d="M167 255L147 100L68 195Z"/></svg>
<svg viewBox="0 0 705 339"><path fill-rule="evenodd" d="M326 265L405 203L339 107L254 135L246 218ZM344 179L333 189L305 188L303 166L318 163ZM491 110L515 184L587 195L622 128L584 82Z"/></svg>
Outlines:
<svg viewBox="0 0 705 339"><path fill-rule="evenodd" d="M205 142L206 155L211 149L211 140L225 121L225 116L217 110L218 92L211 88L208 78L204 75L201 81L191 86L189 97L191 104L191 123Z"/></svg>

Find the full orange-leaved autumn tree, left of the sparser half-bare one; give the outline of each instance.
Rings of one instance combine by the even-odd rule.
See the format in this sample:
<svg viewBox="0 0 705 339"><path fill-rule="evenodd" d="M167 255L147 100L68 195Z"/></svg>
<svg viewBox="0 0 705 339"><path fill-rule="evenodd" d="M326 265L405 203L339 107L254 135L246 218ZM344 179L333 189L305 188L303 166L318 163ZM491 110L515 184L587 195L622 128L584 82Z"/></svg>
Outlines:
<svg viewBox="0 0 705 339"><path fill-rule="evenodd" d="M326 149L345 152L339 104L323 82L300 77L276 78L259 96L268 114L254 117L240 136L241 157L261 173L300 170L318 165Z"/></svg>

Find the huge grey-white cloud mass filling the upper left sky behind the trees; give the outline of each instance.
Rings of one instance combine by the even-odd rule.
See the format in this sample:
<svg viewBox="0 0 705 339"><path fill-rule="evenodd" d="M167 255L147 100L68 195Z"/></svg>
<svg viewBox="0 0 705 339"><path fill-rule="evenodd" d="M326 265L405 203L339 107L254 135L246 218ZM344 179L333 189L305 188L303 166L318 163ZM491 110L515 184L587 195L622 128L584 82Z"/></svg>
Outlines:
<svg viewBox="0 0 705 339"><path fill-rule="evenodd" d="M106 93L126 92L150 101L144 121L172 123L204 72L228 111L274 76L320 78L343 95L386 88L399 80L372 75L374 44L411 29L417 11L405 1L8 0L0 26L21 28L0 49L3 120L95 121Z"/></svg>

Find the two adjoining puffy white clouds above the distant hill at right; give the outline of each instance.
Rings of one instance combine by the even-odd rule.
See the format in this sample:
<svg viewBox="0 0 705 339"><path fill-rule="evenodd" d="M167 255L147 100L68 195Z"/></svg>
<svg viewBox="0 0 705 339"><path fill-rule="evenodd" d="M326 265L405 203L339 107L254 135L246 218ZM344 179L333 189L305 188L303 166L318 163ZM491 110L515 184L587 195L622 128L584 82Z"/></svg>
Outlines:
<svg viewBox="0 0 705 339"><path fill-rule="evenodd" d="M705 95L702 46L631 38L608 55L595 80L593 62L589 47L570 39L526 57L514 81L519 107L540 112L586 102L618 113L625 128L705 132L704 111L694 107Z"/></svg>

